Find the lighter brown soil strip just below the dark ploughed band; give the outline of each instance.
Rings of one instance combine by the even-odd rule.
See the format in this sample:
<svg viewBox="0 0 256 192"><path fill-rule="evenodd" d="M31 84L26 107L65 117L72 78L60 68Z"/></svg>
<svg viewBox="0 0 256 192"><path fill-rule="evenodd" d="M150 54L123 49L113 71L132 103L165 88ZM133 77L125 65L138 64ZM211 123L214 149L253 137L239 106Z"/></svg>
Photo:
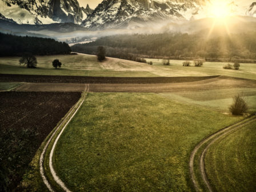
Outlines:
<svg viewBox="0 0 256 192"><path fill-rule="evenodd" d="M179 91L197 91L226 88L256 88L256 80L233 77L217 77L196 82L182 83L92 83L91 92L130 92L130 93L163 93ZM85 84L74 83L24 83L15 91L83 91Z"/></svg>

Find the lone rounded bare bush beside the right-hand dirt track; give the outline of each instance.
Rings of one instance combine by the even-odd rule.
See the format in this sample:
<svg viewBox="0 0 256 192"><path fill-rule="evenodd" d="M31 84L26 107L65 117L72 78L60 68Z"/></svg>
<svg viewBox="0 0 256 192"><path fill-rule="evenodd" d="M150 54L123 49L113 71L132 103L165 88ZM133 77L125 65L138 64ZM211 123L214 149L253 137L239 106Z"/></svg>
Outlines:
<svg viewBox="0 0 256 192"><path fill-rule="evenodd" d="M233 115L243 115L248 110L247 103L245 102L245 99L243 98L242 93L238 93L233 98L233 104L229 107L230 112Z"/></svg>

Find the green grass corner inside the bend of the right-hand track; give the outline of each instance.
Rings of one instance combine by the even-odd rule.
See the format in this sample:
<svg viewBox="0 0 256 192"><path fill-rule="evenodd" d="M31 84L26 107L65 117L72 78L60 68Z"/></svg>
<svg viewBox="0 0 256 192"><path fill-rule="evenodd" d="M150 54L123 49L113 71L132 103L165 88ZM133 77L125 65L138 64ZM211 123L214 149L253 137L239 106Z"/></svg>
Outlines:
<svg viewBox="0 0 256 192"><path fill-rule="evenodd" d="M206 173L215 191L256 191L256 123L219 139L206 153Z"/></svg>

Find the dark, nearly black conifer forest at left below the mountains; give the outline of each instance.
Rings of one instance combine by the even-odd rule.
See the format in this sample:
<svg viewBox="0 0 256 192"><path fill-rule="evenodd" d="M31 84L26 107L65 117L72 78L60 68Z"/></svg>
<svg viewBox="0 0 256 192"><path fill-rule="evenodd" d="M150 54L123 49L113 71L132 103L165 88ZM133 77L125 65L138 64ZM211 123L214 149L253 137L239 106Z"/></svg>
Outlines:
<svg viewBox="0 0 256 192"><path fill-rule="evenodd" d="M0 33L0 56L69 54L71 49L65 42L50 38L21 37Z"/></svg>

